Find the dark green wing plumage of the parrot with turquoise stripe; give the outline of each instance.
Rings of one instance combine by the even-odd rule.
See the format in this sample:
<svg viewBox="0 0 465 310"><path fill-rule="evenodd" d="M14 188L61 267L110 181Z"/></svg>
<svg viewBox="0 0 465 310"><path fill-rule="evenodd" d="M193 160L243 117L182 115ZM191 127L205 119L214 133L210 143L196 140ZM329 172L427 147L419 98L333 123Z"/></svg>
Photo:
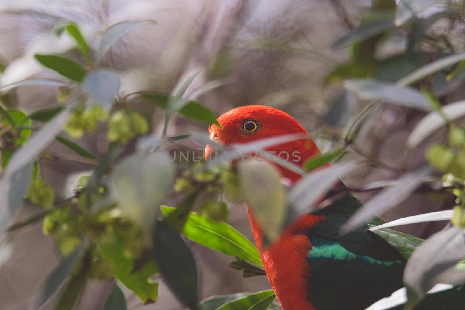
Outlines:
<svg viewBox="0 0 465 310"><path fill-rule="evenodd" d="M404 286L406 257L422 239L393 229L367 231L382 224L379 219L341 236L339 228L359 207L360 202L347 195L313 213L325 217L306 231L312 244L308 258L311 269L308 299L317 310L364 310ZM401 310L402 306L394 309ZM465 309L464 290L434 294L415 309Z"/></svg>

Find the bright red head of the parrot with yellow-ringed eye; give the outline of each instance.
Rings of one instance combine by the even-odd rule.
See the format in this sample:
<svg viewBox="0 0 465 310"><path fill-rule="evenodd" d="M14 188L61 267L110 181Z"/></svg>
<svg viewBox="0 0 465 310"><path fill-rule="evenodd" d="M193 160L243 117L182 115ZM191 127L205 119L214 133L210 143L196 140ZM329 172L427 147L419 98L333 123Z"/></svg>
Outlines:
<svg viewBox="0 0 465 310"><path fill-rule="evenodd" d="M265 149L279 158L302 166L307 158L320 155L306 130L290 115L269 106L240 106L224 113L218 125L210 125L210 139L220 145L241 144L286 134L301 133L303 139L273 145ZM211 159L213 148L206 146L205 158ZM284 177L296 181L300 176L277 165Z"/></svg>

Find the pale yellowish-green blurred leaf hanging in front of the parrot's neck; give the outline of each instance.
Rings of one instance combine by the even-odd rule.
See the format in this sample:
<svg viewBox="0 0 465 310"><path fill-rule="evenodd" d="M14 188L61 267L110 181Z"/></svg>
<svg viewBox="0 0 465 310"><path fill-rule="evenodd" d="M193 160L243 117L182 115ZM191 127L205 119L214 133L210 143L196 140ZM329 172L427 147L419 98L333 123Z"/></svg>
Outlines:
<svg viewBox="0 0 465 310"><path fill-rule="evenodd" d="M281 174L270 162L258 160L242 161L238 170L244 200L266 237L275 241L286 218L286 189Z"/></svg>

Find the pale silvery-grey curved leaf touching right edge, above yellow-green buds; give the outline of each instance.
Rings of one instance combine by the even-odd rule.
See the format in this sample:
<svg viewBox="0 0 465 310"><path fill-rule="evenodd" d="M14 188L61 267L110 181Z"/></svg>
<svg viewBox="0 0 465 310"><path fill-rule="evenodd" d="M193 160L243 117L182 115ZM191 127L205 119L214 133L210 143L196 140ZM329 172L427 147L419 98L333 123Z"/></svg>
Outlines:
<svg viewBox="0 0 465 310"><path fill-rule="evenodd" d="M465 115L465 100L452 102L442 107L442 114L453 121ZM446 121L438 112L431 112L421 119L407 138L407 150L414 149L433 132L444 126Z"/></svg>

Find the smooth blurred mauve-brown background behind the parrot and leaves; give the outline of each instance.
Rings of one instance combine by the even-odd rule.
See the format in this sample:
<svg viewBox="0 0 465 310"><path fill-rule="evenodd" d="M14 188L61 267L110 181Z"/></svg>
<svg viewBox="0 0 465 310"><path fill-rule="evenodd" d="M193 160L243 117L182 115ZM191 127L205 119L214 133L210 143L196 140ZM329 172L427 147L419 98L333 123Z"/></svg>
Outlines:
<svg viewBox="0 0 465 310"><path fill-rule="evenodd" d="M345 92L337 81L325 82L334 68L351 57L350 49L331 46L359 24L371 5L369 0L0 0L0 86L29 78L56 77L36 62L33 58L36 53L66 54L82 62L71 39L55 34L54 27L60 21L78 23L91 49L95 49L98 34L108 26L124 20L157 20L157 26L132 30L106 54L103 66L121 73L123 93L140 90L171 93L179 81L203 69L191 90L207 80L227 80L225 85L198 98L218 115L247 104L273 106L297 119L322 150L329 150L342 128L364 104ZM428 31L446 33L450 30L447 26L439 21ZM463 45L461 32L461 28L455 29L454 44ZM398 38L385 40L384 49L379 47L379 53L385 53L380 57L403 53L405 42L402 47L402 42L398 42L401 40L394 39ZM414 68L412 65L411 70ZM386 72L383 73L388 74L386 79L396 79L389 77L394 73ZM8 96L10 102L27 112L57 105L56 88L51 86L18 89ZM446 100L461 98L463 92L458 89ZM163 119L162 110L140 104L140 111L150 116L153 124ZM346 178L345 183L363 188L373 181L398 177L405 139L424 115L399 106L383 106L376 119L370 120L360 133L357 151L350 156L375 158L385 167L364 166ZM161 128L154 125L152 130L157 132ZM172 135L206 131L206 126L181 117L176 117L169 127ZM435 139L442 134L438 132ZM80 144L98 154L105 151L100 147L101 139L105 139L105 133L98 131L80 140ZM52 145L51 150L68 152L60 145ZM423 162L424 151L420 147L408 165ZM41 173L62 197L70 190L71 180L76 179L70 178L70 174L88 169L85 164L70 167L60 161L42 160L40 165ZM374 193L360 192L357 196L363 202ZM451 208L451 199L437 202L415 194L383 219ZM230 211L230 224L252 240L245 205L232 205ZM32 206L25 206L19 220L34 212ZM443 225L439 222L409 226L405 232L427 237ZM14 259L0 267L0 309L26 310L46 275L59 262L60 254L52 239L41 233L40 224L8 238L13 239L15 252ZM201 273L201 298L269 288L266 277L243 279L239 271L229 268L230 257L198 244L190 245ZM111 287L99 282L88 285L80 309L100 309L102 298ZM131 310L183 309L163 282L159 300L151 305L141 304L130 291L125 294Z"/></svg>

